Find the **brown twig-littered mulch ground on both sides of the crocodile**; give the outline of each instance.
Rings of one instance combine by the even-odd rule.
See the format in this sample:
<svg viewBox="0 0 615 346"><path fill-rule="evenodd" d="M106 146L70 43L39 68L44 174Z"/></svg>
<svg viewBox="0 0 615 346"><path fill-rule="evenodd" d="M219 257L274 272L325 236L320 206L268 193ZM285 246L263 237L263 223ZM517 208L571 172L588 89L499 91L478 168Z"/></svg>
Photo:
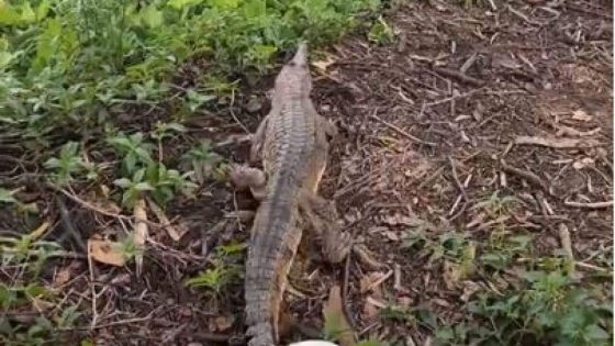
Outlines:
<svg viewBox="0 0 615 346"><path fill-rule="evenodd" d="M478 243L496 231L524 232L548 255L561 248L566 227L575 259L586 265L580 271L610 265L596 264L595 254L612 252L613 209L593 203L613 200L612 3L490 3L411 2L384 18L392 42L378 45L357 34L313 54L314 100L342 133L322 191L380 267L356 256L336 268L309 264L288 294L303 324L322 323L332 282L344 288L362 337L410 343L404 338L412 335L416 345L429 338L423 327L380 319L369 301L421 305L449 323L459 320L471 283L451 282L446 264L404 248L409 231L457 230ZM241 135L234 116L256 129L267 111L266 87L237 98L233 114L204 114L192 135L216 143ZM245 149L231 144L217 152L242 161ZM483 208L505 197L519 203L500 214ZM83 325L78 334L97 345L241 343L241 280L208 294L183 282L221 263L228 270L241 266L242 253L228 246L231 254L221 255L215 247L245 241L249 222L224 215L255 207L221 181L205 186L198 201L180 201L169 216L188 233L177 244L155 233L141 278L64 263L58 272L74 274L64 283L67 299L97 306L83 319L92 328Z"/></svg>

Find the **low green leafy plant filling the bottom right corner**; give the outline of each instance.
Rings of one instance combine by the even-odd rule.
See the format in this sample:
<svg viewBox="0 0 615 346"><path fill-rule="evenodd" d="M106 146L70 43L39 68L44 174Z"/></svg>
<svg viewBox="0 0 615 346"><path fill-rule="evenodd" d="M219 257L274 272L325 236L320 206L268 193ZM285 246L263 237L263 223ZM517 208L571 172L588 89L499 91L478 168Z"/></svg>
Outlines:
<svg viewBox="0 0 615 346"><path fill-rule="evenodd" d="M521 290L483 293L467 305L462 328L444 327L438 345L607 345L611 306L563 271L530 271Z"/></svg>

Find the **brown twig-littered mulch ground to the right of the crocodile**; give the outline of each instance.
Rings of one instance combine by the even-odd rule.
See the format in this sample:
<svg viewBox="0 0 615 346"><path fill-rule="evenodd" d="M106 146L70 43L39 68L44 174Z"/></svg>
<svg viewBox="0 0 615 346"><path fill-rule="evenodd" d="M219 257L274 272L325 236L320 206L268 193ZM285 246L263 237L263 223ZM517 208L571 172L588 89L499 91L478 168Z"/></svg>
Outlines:
<svg viewBox="0 0 615 346"><path fill-rule="evenodd" d="M394 44L355 38L329 53L336 64L316 83L321 112L347 137L324 189L377 258L398 268L398 284L383 283L389 302L454 323L473 284L451 284L446 261L403 249L411 230L457 230L479 244L501 230L528 232L552 255L563 224L579 261L610 252L612 207L592 203L613 196L611 19L583 5L518 1L494 13L407 4L388 18ZM543 144L521 144L523 136ZM490 220L477 207L494 192L522 204ZM357 270L358 330L425 343L420 323L409 331L365 316Z"/></svg>

